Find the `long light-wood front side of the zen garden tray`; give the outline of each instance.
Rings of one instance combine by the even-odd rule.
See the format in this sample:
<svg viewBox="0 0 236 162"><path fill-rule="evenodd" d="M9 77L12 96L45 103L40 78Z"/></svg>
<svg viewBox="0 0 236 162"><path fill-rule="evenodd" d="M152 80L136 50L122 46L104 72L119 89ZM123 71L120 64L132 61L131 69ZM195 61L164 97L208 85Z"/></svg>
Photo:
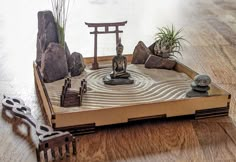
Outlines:
<svg viewBox="0 0 236 162"><path fill-rule="evenodd" d="M212 110L208 114L210 116L214 111L218 111L218 109L221 111L222 108L225 108L228 111L228 105L229 99L227 95L197 97L82 112L57 112L55 123L57 128L92 124L104 126L158 116L169 118L196 115L198 117L201 113L204 113L203 110ZM220 114L220 111L218 114ZM227 115L226 111L222 111L222 114ZM205 117L207 117L207 114L205 114Z"/></svg>

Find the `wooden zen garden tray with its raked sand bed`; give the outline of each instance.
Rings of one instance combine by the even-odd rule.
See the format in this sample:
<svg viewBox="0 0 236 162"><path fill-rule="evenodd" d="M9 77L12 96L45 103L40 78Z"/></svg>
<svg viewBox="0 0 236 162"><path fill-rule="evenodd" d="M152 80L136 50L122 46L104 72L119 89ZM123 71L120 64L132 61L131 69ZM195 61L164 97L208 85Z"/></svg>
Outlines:
<svg viewBox="0 0 236 162"><path fill-rule="evenodd" d="M128 61L132 55L126 55ZM177 63L174 70L146 69L144 65L128 65L134 79L132 85L105 85L103 77L111 72L111 56L98 57L98 70L87 66L82 75L71 78L72 89L79 91L87 81L87 93L80 107L60 107L64 79L44 83L34 64L35 81L43 109L56 130L72 133L90 132L98 126L127 123L152 118L192 116L195 119L228 115L230 94L210 84L207 97L187 98L186 92L198 73ZM89 65L92 58L85 58Z"/></svg>

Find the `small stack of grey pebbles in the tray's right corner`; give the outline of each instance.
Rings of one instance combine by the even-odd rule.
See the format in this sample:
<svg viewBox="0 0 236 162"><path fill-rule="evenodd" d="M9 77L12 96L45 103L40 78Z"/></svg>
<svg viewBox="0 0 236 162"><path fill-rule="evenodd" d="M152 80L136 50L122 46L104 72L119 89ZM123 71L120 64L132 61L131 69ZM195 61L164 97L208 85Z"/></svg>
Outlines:
<svg viewBox="0 0 236 162"><path fill-rule="evenodd" d="M192 90L187 92L187 97L203 97L208 96L208 90L210 90L209 84L211 78L208 75L197 75L194 77L194 81L191 84Z"/></svg>

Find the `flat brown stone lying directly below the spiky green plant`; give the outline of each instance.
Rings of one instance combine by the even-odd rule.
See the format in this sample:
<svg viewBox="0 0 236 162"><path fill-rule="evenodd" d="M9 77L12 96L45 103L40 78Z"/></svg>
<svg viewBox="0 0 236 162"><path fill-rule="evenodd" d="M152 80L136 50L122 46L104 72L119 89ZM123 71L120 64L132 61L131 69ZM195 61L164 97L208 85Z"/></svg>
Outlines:
<svg viewBox="0 0 236 162"><path fill-rule="evenodd" d="M155 55L149 55L147 61L145 62L146 68L157 68L157 69L173 69L176 65L175 60L169 58L162 58Z"/></svg>

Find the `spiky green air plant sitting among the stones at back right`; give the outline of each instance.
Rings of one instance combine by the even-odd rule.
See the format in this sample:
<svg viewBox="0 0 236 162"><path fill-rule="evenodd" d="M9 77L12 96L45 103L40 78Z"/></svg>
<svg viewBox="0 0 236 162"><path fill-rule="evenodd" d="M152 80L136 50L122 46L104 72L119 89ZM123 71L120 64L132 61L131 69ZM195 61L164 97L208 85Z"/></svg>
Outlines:
<svg viewBox="0 0 236 162"><path fill-rule="evenodd" d="M158 28L155 34L154 54L164 58L176 57L175 54L181 54L181 41L185 40L180 35L182 29L176 31L174 26Z"/></svg>

